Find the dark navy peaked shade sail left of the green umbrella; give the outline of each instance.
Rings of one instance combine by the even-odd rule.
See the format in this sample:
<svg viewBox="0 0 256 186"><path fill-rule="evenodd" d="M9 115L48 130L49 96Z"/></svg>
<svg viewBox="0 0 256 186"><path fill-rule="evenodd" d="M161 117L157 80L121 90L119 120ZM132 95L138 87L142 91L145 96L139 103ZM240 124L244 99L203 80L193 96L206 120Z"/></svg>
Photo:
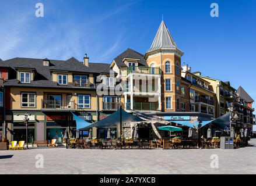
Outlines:
<svg viewBox="0 0 256 186"><path fill-rule="evenodd" d="M144 121L144 120L138 116L134 116L122 110L122 123L131 123L136 121ZM89 126L80 128L80 130L87 130L88 128L92 128L92 127L97 127L97 128L111 127L111 126L116 127L119 124L120 124L120 109L115 111L110 116L104 118L103 120L97 121L96 123L93 123Z"/></svg>

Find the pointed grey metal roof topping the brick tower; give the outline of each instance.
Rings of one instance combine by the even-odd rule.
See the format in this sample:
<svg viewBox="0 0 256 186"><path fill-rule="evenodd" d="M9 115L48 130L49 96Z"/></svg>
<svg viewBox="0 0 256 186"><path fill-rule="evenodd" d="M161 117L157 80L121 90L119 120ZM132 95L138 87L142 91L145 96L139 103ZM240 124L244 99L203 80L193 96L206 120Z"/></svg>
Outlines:
<svg viewBox="0 0 256 186"><path fill-rule="evenodd" d="M151 47L148 49L148 51L146 51L146 53L153 52L163 48L178 49L175 41L173 40L173 37L171 37L171 34L168 28L166 27L166 24L164 24L164 21L162 20L160 27L158 28L158 31L156 33L155 39Z"/></svg>

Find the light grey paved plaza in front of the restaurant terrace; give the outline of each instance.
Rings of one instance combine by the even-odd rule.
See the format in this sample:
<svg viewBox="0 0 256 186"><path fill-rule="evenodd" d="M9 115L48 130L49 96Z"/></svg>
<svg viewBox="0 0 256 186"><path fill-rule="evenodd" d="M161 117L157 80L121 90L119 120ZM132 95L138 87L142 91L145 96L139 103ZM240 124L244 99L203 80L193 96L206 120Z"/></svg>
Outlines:
<svg viewBox="0 0 256 186"><path fill-rule="evenodd" d="M41 158L41 155L44 167L37 168L36 156ZM216 155L218 168L212 168L211 161L216 160ZM0 167L5 174L256 174L255 157L256 139L253 139L250 146L239 149L0 151Z"/></svg>

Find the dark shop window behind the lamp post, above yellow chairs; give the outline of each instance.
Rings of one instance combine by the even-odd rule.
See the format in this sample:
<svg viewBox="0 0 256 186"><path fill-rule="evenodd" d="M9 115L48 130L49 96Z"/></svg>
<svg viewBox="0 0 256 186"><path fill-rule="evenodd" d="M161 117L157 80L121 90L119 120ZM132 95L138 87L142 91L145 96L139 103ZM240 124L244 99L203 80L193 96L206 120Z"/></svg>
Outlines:
<svg viewBox="0 0 256 186"><path fill-rule="evenodd" d="M35 123L27 123L27 140L29 144L32 144L35 139ZM25 141L26 143L26 124L13 123L13 140Z"/></svg>

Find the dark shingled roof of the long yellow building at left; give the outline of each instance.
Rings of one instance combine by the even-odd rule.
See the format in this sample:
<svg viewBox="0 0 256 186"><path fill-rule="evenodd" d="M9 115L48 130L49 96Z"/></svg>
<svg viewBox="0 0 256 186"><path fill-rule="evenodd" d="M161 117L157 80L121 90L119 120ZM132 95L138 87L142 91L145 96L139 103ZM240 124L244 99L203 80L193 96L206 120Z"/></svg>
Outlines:
<svg viewBox="0 0 256 186"><path fill-rule="evenodd" d="M27 87L58 87L58 88L73 88L72 84L68 85L58 85L57 82L51 81L51 70L59 71L73 71L80 73L109 73L110 65L106 63L89 63L89 67L83 65L82 62L75 58L70 58L68 60L50 60L49 66L43 66L43 60L46 59L33 59L33 58L13 58L0 62L1 64L8 65L13 69L35 69L36 76L30 84L19 83L19 80L12 79L7 80L4 85L10 86L27 86ZM90 88L94 88L92 85Z"/></svg>

